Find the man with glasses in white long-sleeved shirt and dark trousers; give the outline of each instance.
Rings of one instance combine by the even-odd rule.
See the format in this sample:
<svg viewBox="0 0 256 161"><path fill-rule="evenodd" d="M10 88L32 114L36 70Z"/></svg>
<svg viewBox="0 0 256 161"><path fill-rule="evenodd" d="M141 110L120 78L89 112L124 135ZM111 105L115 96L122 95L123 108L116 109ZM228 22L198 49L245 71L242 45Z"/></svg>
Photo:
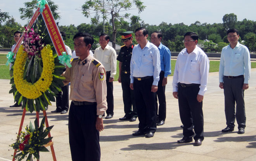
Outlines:
<svg viewBox="0 0 256 161"><path fill-rule="evenodd" d="M178 144L192 142L195 134L194 146L201 146L204 140L202 100L208 81L209 59L197 47L198 36L194 32L187 32L183 42L186 48L177 57L173 75L173 97L178 99L184 125L184 137L178 140Z"/></svg>

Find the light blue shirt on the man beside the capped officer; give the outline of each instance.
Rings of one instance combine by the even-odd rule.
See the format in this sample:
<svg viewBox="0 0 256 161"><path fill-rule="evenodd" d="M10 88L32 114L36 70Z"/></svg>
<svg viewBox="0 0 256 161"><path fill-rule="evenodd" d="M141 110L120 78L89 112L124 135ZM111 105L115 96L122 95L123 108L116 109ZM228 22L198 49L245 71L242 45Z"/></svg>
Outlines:
<svg viewBox="0 0 256 161"><path fill-rule="evenodd" d="M153 76L152 85L158 85L159 74L161 71L159 49L149 41L146 46L141 49L140 44L133 47L131 56L131 83L133 77Z"/></svg>

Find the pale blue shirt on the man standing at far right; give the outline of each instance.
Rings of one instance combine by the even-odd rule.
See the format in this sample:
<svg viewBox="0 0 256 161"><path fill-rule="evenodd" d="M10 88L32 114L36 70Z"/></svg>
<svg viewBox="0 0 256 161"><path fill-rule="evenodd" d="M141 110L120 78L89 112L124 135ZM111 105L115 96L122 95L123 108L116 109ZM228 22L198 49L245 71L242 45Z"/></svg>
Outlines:
<svg viewBox="0 0 256 161"><path fill-rule="evenodd" d="M220 56L219 81L223 76L244 75L244 83L248 84L251 73L250 52L239 42L232 49L230 45L223 47Z"/></svg>

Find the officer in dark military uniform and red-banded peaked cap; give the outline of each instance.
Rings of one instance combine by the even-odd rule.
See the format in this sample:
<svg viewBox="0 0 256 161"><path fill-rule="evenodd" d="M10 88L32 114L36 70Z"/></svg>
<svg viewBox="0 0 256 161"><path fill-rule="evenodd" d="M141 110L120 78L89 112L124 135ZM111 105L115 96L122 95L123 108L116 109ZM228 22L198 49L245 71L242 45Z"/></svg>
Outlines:
<svg viewBox="0 0 256 161"><path fill-rule="evenodd" d="M125 45L121 46L117 60L119 61L119 78L118 82L122 85L123 90L123 102L125 108L125 116L119 120L130 120L130 122L136 121L137 109L134 101L133 90L130 88L130 63L133 49L132 43L132 31L126 31L121 34L121 41ZM133 106L133 110L131 108Z"/></svg>

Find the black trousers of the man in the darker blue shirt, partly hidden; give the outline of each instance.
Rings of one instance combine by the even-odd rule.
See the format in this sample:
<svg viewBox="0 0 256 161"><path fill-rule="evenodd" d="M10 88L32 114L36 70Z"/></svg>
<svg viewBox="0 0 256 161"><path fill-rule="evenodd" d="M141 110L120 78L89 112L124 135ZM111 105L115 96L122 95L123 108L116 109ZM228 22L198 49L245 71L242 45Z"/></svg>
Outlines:
<svg viewBox="0 0 256 161"><path fill-rule="evenodd" d="M166 99L165 99L165 86L163 86L164 71L160 72L160 80L158 82L158 89L156 92L156 120L165 121L166 119ZM157 97L159 102L159 109L157 104ZM157 114L158 112L158 114Z"/></svg>

